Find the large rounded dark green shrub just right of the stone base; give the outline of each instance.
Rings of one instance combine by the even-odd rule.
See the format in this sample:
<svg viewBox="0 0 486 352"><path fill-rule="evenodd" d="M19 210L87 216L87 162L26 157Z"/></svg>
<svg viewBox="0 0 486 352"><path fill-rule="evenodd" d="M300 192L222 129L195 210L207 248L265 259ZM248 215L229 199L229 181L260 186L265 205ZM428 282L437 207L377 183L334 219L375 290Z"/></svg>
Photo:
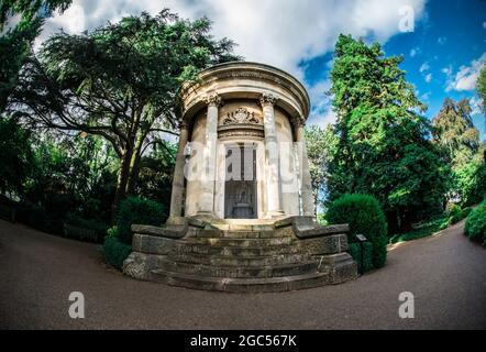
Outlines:
<svg viewBox="0 0 486 352"><path fill-rule="evenodd" d="M378 201L369 195L343 195L329 207L327 220L331 224L349 223L349 243L355 243L356 234L364 234L373 244L373 266L386 262L387 222Z"/></svg>

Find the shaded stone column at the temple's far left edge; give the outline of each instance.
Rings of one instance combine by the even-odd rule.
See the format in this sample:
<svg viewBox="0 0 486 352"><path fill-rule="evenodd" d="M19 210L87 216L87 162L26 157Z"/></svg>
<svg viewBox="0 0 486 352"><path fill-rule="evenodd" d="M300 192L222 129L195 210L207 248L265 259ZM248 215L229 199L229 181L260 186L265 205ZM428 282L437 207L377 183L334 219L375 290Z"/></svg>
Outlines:
<svg viewBox="0 0 486 352"><path fill-rule="evenodd" d="M184 201L184 165L186 163L186 144L189 130L185 122L180 124L179 145L177 147L176 166L174 170L173 191L170 195L170 218L183 216Z"/></svg>

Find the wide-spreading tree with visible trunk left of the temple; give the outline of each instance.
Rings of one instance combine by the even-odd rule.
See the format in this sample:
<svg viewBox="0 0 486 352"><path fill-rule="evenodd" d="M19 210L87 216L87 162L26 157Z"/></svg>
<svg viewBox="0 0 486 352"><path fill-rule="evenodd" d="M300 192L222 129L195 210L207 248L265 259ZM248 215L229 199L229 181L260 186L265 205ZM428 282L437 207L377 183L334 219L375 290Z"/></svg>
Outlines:
<svg viewBox="0 0 486 352"><path fill-rule="evenodd" d="M202 18L123 18L81 35L64 32L32 57L10 107L38 127L101 135L121 161L113 215L133 193L146 147L177 134L174 102L185 80L210 65L239 59L233 42L216 41Z"/></svg>

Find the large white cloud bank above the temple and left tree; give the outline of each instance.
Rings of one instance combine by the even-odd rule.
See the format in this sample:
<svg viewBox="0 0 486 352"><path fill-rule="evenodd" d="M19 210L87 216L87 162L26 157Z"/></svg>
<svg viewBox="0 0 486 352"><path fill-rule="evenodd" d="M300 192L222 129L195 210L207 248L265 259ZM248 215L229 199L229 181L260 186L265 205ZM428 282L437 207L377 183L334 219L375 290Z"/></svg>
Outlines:
<svg viewBox="0 0 486 352"><path fill-rule="evenodd" d="M59 28L75 34L128 14L156 14L169 8L191 20L207 15L213 21L214 36L234 40L239 44L236 53L245 59L277 66L303 80L299 64L331 52L340 33L384 43L399 33L400 9L413 8L417 28L424 15L424 3L426 0L74 0L68 11L46 21L36 45ZM312 103L319 103L314 99ZM325 118L331 119L331 114Z"/></svg>

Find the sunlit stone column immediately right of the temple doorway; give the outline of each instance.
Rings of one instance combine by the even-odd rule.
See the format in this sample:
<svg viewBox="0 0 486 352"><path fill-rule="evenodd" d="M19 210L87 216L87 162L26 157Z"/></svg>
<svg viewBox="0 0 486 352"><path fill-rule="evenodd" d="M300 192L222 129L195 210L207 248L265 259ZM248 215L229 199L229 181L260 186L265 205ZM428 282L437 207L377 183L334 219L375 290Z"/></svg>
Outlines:
<svg viewBox="0 0 486 352"><path fill-rule="evenodd" d="M263 108L265 154L267 160L267 216L275 218L284 215L280 205L280 170L274 111L274 105L277 102L277 98L273 95L264 94L259 101Z"/></svg>

